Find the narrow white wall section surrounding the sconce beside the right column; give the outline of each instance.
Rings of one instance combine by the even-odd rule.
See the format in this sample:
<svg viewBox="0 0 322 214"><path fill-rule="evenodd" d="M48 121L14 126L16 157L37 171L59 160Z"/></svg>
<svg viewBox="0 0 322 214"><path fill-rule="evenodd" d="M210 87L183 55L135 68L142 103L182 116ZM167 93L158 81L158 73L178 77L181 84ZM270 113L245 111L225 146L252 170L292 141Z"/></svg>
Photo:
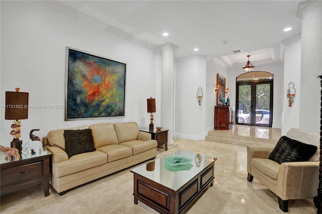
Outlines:
<svg viewBox="0 0 322 214"><path fill-rule="evenodd" d="M301 40L285 45L284 47L284 82L283 98L283 126L282 135L291 128L299 128L300 113L300 75L301 75ZM292 106L288 106L286 90L290 82L294 82L296 97Z"/></svg>

